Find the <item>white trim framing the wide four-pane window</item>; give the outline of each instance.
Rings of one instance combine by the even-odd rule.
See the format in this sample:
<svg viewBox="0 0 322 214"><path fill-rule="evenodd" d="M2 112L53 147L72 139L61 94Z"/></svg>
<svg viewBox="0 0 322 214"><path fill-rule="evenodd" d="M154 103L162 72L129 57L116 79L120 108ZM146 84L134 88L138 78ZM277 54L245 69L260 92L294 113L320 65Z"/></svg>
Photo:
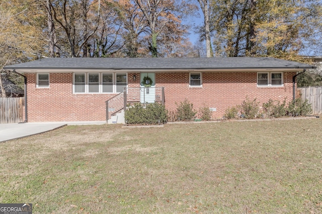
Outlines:
<svg viewBox="0 0 322 214"><path fill-rule="evenodd" d="M89 92L89 75L99 74L99 92ZM85 75L85 92L75 92L75 74L84 74ZM112 74L113 75L113 92L103 92L103 74ZM118 94L120 92L116 92L116 75L117 74L126 74L126 87L128 87L128 74L124 72L83 72L73 73L73 82L72 82L72 93L73 94Z"/></svg>

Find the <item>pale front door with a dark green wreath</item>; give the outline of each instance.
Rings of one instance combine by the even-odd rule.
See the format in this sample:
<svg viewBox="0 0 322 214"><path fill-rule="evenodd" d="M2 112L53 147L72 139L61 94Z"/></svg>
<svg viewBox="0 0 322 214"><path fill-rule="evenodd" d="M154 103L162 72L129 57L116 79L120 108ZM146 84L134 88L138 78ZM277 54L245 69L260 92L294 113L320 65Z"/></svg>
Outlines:
<svg viewBox="0 0 322 214"><path fill-rule="evenodd" d="M141 73L140 75L140 101L141 103L155 102L155 73Z"/></svg>

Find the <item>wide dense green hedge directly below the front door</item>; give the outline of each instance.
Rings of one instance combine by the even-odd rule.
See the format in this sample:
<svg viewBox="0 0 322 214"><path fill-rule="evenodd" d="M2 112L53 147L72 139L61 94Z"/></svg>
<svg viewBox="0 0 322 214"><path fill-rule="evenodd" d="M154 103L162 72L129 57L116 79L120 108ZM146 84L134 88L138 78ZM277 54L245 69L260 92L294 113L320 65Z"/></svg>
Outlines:
<svg viewBox="0 0 322 214"><path fill-rule="evenodd" d="M162 104L145 104L144 108L143 104L136 103L128 106L124 117L127 124L160 124L167 123L168 111Z"/></svg>

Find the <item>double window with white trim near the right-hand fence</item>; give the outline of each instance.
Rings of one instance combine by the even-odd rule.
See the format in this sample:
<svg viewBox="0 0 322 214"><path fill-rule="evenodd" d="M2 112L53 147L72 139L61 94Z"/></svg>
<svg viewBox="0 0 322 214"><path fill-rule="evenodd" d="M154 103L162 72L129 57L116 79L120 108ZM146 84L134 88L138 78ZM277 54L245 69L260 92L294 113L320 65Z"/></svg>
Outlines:
<svg viewBox="0 0 322 214"><path fill-rule="evenodd" d="M283 72L258 72L257 86L283 86Z"/></svg>

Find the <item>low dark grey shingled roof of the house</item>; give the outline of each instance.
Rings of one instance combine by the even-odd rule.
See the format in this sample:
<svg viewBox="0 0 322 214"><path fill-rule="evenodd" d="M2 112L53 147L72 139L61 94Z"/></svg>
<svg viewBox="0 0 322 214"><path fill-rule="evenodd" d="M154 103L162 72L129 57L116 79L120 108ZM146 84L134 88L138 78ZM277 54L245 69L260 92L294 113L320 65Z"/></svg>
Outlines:
<svg viewBox="0 0 322 214"><path fill-rule="evenodd" d="M312 69L314 66L275 58L45 58L6 66L7 70L111 69L111 70L187 70L187 69Z"/></svg>

